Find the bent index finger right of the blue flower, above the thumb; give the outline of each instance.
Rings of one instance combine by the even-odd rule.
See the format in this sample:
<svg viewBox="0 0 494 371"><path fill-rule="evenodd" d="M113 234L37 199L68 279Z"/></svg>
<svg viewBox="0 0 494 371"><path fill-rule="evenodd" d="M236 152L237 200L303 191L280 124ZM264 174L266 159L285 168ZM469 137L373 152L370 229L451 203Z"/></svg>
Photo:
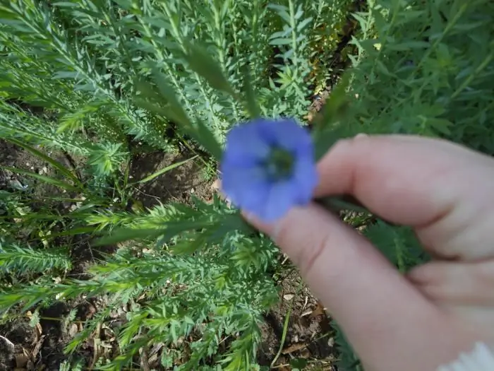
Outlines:
<svg viewBox="0 0 494 371"><path fill-rule="evenodd" d="M351 194L370 211L416 229L426 247L485 257L493 223L494 160L439 139L363 136L339 141L318 163L316 196ZM483 242L482 242L483 241ZM487 249L487 247L486 247Z"/></svg>

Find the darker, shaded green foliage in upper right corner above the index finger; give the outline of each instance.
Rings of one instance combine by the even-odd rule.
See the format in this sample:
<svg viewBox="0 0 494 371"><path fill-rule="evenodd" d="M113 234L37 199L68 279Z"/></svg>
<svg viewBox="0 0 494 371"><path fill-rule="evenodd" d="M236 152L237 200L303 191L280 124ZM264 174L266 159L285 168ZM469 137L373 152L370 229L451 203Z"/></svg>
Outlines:
<svg viewBox="0 0 494 371"><path fill-rule="evenodd" d="M494 153L492 1L369 1L351 125Z"/></svg>

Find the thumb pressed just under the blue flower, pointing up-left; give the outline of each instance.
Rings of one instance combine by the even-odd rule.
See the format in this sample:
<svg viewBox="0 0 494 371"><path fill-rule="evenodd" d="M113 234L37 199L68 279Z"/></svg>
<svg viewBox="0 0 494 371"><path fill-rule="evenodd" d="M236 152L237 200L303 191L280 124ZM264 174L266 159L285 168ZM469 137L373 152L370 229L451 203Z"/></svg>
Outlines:
<svg viewBox="0 0 494 371"><path fill-rule="evenodd" d="M322 207L294 208L270 225L246 218L299 266L370 369L402 370L403 365L417 365L416 354L423 355L421 365L437 367L462 350L457 337L446 335L451 325L445 324L438 308L368 240ZM414 323L428 324L427 329ZM441 345L430 352L434 336ZM407 355L404 349L413 351ZM387 359L382 367L386 354L400 356Z"/></svg>

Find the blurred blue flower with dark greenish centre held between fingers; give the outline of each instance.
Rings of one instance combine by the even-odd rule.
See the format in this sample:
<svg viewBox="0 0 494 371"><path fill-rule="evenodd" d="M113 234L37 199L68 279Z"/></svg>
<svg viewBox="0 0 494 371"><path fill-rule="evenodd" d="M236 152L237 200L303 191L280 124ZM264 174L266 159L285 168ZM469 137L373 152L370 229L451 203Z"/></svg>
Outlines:
<svg viewBox="0 0 494 371"><path fill-rule="evenodd" d="M224 194L266 223L308 204L318 182L311 136L294 119L254 119L235 126L220 170Z"/></svg>

